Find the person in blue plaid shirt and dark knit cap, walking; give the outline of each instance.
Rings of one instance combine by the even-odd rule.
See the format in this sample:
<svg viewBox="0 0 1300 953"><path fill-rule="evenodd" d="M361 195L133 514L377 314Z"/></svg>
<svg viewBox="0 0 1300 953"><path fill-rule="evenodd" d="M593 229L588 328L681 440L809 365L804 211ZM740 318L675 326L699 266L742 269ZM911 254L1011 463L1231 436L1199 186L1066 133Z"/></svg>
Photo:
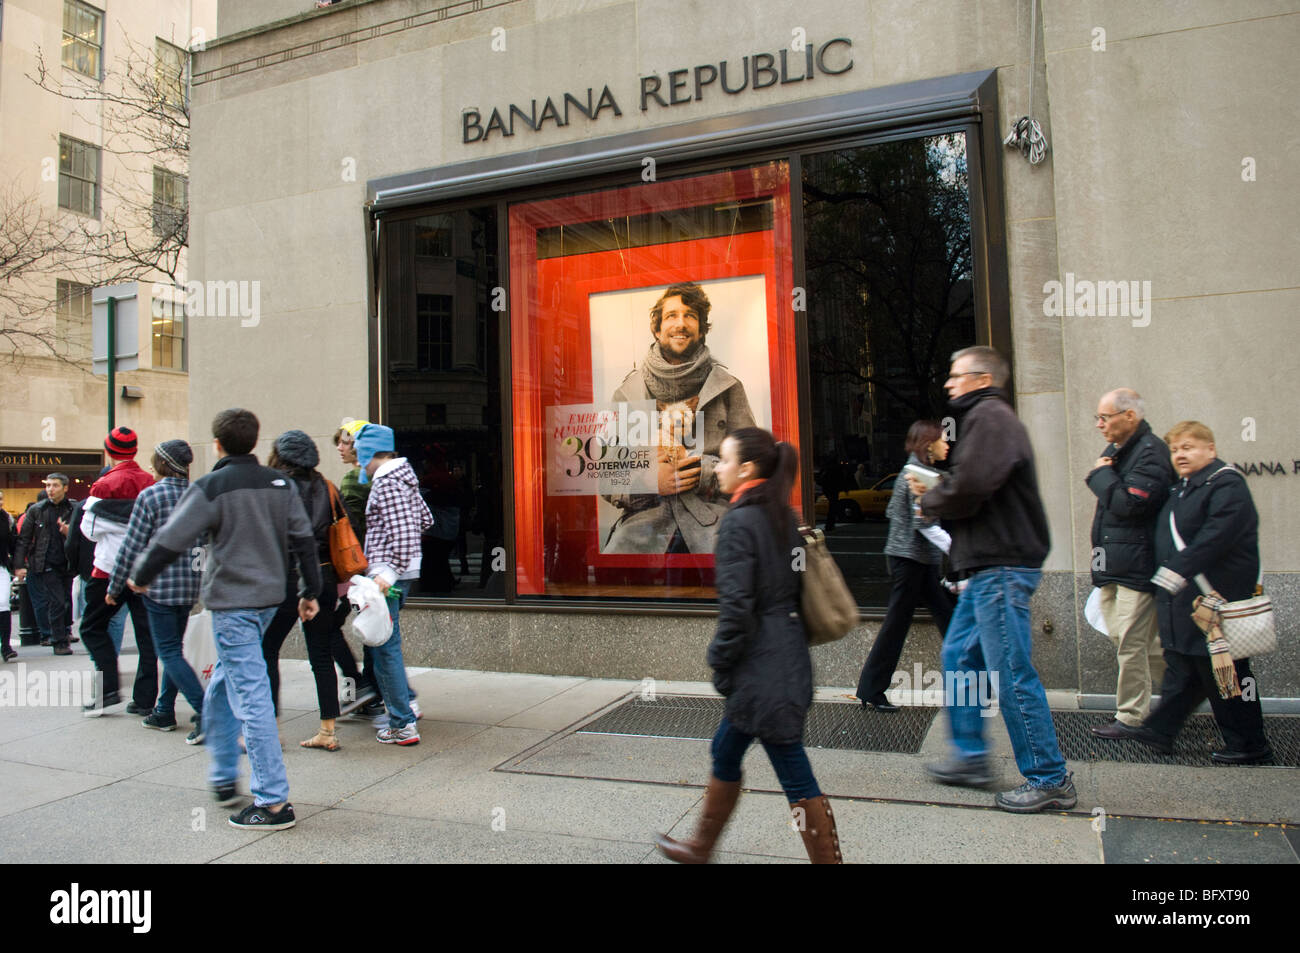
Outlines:
<svg viewBox="0 0 1300 953"><path fill-rule="evenodd" d="M194 727L185 740L198 745L203 742L203 684L185 659L185 629L190 624L190 610L199 598L203 541L198 537L192 540L190 547L159 573L148 595L136 595L126 588L135 560L166 525L188 489L192 462L194 450L183 439L164 441L153 447L152 465L157 480L135 498L126 540L113 564L104 602L116 606L136 598L150 619L150 634L162 663L162 690L140 724L156 731L176 731L176 698L183 694L194 709Z"/></svg>

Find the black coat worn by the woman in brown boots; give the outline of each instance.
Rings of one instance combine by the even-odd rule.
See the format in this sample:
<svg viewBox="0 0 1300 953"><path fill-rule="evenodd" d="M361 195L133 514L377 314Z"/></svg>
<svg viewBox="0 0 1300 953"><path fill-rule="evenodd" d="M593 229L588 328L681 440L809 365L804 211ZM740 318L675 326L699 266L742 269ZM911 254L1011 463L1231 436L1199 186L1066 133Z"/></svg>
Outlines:
<svg viewBox="0 0 1300 953"><path fill-rule="evenodd" d="M812 659L800 619L801 546L794 515L777 545L762 506L745 497L723 515L718 567L718 629L708 645L714 685L737 729L777 745L803 740L812 703Z"/></svg>

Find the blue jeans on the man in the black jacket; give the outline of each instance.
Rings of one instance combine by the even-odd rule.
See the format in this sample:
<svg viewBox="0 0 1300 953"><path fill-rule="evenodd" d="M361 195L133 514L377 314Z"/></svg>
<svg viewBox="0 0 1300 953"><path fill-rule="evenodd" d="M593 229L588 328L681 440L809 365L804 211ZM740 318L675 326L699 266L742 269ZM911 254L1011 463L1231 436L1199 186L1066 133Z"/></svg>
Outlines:
<svg viewBox="0 0 1300 953"><path fill-rule="evenodd" d="M953 685L953 673L997 675L998 706L1015 764L1035 788L1052 788L1065 783L1065 758L1046 692L1030 658L1030 597L1041 577L1039 569L1006 566L971 576L953 610L941 655L948 686ZM946 698L959 758L982 758L988 750L984 719L971 694L953 692Z"/></svg>

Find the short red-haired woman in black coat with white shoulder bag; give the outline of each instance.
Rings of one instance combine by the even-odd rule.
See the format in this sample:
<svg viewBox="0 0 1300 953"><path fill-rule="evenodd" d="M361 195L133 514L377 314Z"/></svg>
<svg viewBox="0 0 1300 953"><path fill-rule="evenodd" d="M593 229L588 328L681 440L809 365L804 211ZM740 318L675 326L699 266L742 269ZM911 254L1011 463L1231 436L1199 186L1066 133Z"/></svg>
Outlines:
<svg viewBox="0 0 1300 953"><path fill-rule="evenodd" d="M1227 742L1210 758L1222 764L1269 761L1260 689L1249 659L1234 659L1243 693L1221 698L1210 667L1205 633L1192 621L1192 603L1201 594L1195 577L1204 575L1228 602L1254 594L1260 579L1260 516L1243 477L1216 456L1214 434L1195 420L1175 424L1165 436L1174 469L1182 477L1156 520L1156 564L1152 581L1160 641L1165 647L1165 683L1160 706L1134 737L1169 754L1187 716L1209 698L1214 720ZM1170 515L1184 549L1174 542Z"/></svg>

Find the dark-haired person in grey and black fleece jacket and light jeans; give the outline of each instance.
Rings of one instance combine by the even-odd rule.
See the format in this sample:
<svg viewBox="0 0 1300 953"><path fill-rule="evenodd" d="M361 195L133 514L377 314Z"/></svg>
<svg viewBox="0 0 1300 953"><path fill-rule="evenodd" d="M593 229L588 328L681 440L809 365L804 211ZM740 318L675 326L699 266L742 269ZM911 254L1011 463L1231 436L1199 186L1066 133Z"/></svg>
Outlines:
<svg viewBox="0 0 1300 953"><path fill-rule="evenodd" d="M298 611L304 620L318 610L321 576L302 499L283 473L260 465L252 454L257 429L257 417L243 408L221 411L213 419L216 465L190 484L172 519L135 560L126 584L133 592L148 592L195 537L207 536L200 597L212 611L217 646L217 664L203 697L208 780L218 803L238 802L243 733L254 802L230 823L280 831L295 819L261 637L283 599L290 562L300 575Z"/></svg>

